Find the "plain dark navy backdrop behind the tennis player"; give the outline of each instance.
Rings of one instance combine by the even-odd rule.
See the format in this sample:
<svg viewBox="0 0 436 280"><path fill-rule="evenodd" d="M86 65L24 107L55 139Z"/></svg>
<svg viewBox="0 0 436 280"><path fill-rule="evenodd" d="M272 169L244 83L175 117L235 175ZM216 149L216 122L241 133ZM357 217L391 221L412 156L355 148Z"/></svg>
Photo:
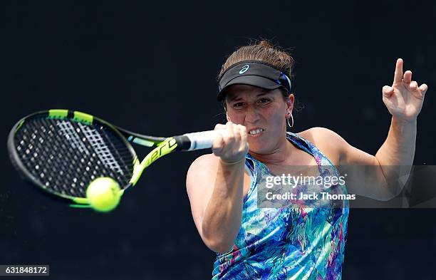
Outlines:
<svg viewBox="0 0 436 280"><path fill-rule="evenodd" d="M91 2L91 1L89 1ZM190 162L164 157L110 214L69 209L22 182L6 138L28 113L69 108L150 135L223 123L224 59L268 38L296 59L305 108L294 132L336 131L371 154L390 114L395 60L427 83L416 165L435 165L435 5L423 1L2 1L0 264L50 264L51 279L210 279L185 190ZM343 279L436 279L436 209L351 209ZM21 279L23 277L18 277Z"/></svg>

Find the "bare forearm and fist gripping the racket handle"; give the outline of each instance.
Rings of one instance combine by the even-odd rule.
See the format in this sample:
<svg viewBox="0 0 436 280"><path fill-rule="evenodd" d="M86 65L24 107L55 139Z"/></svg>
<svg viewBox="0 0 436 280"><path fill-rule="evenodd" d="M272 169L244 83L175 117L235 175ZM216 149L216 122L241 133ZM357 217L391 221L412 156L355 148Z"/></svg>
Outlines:
<svg viewBox="0 0 436 280"><path fill-rule="evenodd" d="M224 253L232 247L242 222L244 162L248 151L242 125L217 125L224 130L212 150L195 160L187 173L192 217L204 244Z"/></svg>

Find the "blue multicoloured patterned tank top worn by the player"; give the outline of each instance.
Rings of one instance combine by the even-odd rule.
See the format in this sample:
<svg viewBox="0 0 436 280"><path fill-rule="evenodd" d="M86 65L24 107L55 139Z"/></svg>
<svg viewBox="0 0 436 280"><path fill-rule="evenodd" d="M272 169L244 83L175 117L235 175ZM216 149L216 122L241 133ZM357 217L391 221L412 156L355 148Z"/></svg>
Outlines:
<svg viewBox="0 0 436 280"><path fill-rule="evenodd" d="M296 147L315 157L319 175L339 176L332 162L308 140L287 133ZM217 254L212 279L341 279L347 237L348 201L335 207L258 207L258 186L274 176L264 163L246 155L251 186L242 225L229 252ZM346 185L336 192L347 194ZM328 205L327 205L328 206Z"/></svg>

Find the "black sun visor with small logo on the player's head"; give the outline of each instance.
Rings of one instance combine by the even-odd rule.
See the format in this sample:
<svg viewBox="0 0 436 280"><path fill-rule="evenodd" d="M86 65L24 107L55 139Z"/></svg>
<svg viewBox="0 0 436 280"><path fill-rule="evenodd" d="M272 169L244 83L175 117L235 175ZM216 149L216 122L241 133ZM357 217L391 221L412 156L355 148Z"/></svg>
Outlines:
<svg viewBox="0 0 436 280"><path fill-rule="evenodd" d="M217 100L225 97L225 90L234 84L254 85L259 88L274 90L284 88L291 92L291 81L285 73L261 61L241 61L227 69L219 78Z"/></svg>

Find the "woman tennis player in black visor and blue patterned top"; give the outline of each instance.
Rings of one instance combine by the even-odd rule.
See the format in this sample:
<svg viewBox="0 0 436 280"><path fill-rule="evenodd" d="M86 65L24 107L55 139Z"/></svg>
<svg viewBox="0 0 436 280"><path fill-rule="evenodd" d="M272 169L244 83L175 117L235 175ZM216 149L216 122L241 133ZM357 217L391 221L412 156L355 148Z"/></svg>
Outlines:
<svg viewBox="0 0 436 280"><path fill-rule="evenodd" d="M335 165L372 165L378 167L375 184L338 184L336 193L388 200L400 191L388 187L398 177L395 166L412 165L427 85L412 81L411 71L403 73L402 59L393 85L382 90L392 120L375 155L326 128L286 132L286 123L294 123L293 64L287 53L261 41L234 51L219 73L218 100L228 122L215 127L221 136L213 153L198 157L187 172L192 217L204 244L217 252L212 279L341 279L348 201L340 207L263 208L259 188L296 165L318 166L323 176Z"/></svg>

